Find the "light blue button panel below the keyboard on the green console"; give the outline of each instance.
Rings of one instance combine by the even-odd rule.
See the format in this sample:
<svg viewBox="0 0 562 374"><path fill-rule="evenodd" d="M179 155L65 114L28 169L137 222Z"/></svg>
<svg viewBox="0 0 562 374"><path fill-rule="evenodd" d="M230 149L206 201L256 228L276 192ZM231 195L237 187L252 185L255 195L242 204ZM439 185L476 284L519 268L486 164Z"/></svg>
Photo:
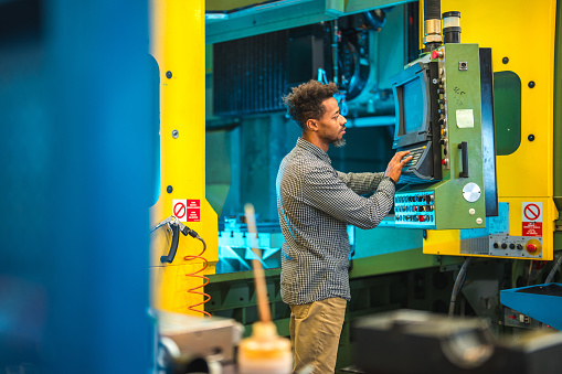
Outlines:
<svg viewBox="0 0 562 374"><path fill-rule="evenodd" d="M432 191L396 193L394 223L396 226L435 228L435 195Z"/></svg>

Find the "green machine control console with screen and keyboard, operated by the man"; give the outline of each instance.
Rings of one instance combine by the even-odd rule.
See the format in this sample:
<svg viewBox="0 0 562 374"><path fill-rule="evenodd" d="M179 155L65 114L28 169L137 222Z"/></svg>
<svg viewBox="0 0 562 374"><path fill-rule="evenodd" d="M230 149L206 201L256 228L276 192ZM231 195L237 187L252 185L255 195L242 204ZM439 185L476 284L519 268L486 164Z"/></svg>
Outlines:
<svg viewBox="0 0 562 374"><path fill-rule="evenodd" d="M445 44L395 75L393 148L413 156L395 227L459 229L497 215L491 50Z"/></svg>

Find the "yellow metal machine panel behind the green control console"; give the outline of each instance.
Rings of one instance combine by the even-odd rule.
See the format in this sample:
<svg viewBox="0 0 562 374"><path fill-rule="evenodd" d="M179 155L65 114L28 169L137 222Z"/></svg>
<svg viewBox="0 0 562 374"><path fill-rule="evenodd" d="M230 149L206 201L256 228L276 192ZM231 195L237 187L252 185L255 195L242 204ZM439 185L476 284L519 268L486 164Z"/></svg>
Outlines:
<svg viewBox="0 0 562 374"><path fill-rule="evenodd" d="M442 13L446 11L460 12L462 43L491 47L494 72L511 71L521 78L521 145L513 153L497 157L498 196L509 204L510 236L522 235L522 203L542 203L541 259L550 260L558 218L553 202L556 1L442 0ZM509 58L507 64L503 57ZM458 241L458 231L431 232L424 253L459 255Z"/></svg>

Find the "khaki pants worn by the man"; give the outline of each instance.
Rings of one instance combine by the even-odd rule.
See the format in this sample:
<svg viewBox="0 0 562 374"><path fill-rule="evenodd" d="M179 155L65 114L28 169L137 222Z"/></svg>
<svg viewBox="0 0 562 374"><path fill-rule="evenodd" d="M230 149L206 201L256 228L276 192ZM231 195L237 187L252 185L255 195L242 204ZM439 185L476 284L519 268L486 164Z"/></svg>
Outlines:
<svg viewBox="0 0 562 374"><path fill-rule="evenodd" d="M346 306L347 301L341 298L290 306L295 373L312 365L314 374L333 374Z"/></svg>

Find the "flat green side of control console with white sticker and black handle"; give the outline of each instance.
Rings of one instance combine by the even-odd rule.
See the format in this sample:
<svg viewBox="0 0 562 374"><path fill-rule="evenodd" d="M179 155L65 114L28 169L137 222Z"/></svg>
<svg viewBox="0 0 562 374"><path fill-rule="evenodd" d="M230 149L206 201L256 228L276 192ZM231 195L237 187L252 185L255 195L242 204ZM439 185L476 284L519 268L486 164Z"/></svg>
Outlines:
<svg viewBox="0 0 562 374"><path fill-rule="evenodd" d="M442 182L433 186L435 190L436 228L485 227L478 44L446 44L444 60L450 170ZM459 66L462 63L466 63L465 71ZM471 113L467 110L471 110ZM462 115L466 117L462 117ZM463 157L458 146L463 141L468 143L469 178L459 178L463 170ZM463 188L469 182L478 184L483 190L483 196L473 203L463 199L462 195ZM475 210L474 214L469 213L471 209ZM477 218L481 218L481 224L477 224Z"/></svg>

